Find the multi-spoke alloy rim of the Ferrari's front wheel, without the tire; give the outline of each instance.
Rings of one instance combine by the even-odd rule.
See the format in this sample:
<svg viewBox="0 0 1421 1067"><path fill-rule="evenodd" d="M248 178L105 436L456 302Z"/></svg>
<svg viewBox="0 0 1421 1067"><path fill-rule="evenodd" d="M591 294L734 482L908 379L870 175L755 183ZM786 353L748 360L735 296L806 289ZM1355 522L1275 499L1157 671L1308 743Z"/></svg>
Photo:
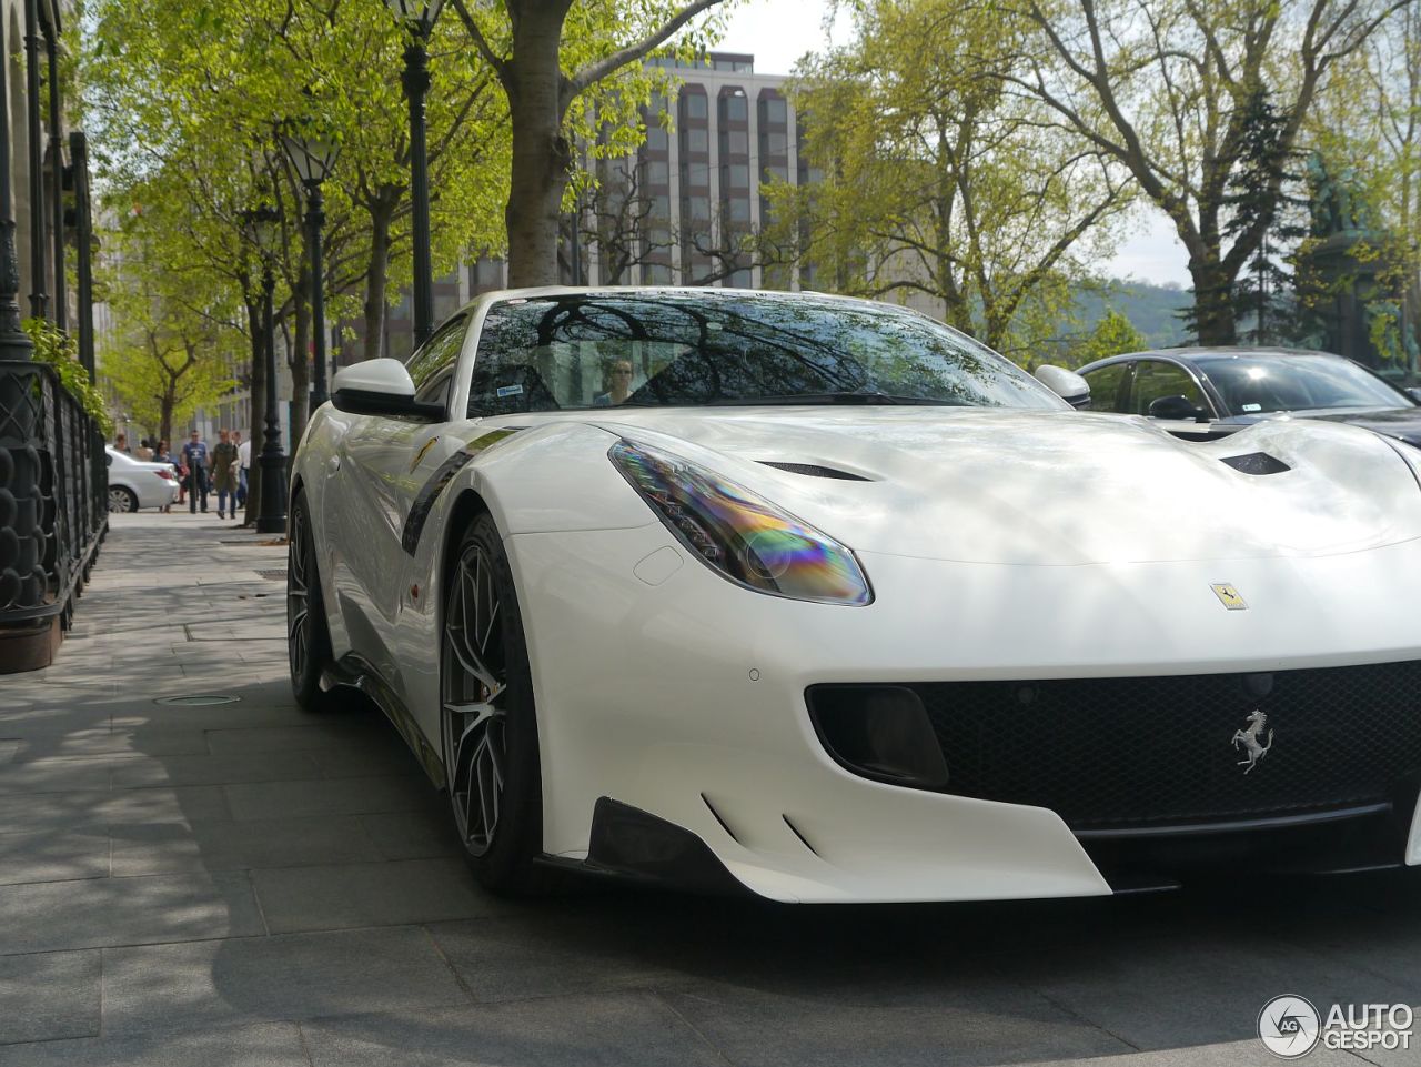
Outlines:
<svg viewBox="0 0 1421 1067"><path fill-rule="evenodd" d="M493 565L466 544L449 575L445 615L443 726L455 820L470 855L499 830L507 766L507 681Z"/></svg>

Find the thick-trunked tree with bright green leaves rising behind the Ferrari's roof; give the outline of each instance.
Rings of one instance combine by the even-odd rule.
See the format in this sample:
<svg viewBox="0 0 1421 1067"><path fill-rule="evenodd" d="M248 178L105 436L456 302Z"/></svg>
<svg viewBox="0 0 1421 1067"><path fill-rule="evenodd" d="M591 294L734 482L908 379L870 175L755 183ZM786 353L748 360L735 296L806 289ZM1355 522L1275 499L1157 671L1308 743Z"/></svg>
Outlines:
<svg viewBox="0 0 1421 1067"><path fill-rule="evenodd" d="M507 95L509 284L558 281L558 226L574 168L573 143L578 136L594 139L595 134L587 117L595 114L597 125L611 121L628 131L638 128L637 112L654 91L666 87L668 78L664 71L632 64L666 44L696 16L728 1L644 0L630 6L584 0L574 10L573 0L504 0L479 4L475 18L465 0L453 0L469 38ZM684 47L695 48L696 41ZM584 95L593 91L598 91L595 107L588 108Z"/></svg>

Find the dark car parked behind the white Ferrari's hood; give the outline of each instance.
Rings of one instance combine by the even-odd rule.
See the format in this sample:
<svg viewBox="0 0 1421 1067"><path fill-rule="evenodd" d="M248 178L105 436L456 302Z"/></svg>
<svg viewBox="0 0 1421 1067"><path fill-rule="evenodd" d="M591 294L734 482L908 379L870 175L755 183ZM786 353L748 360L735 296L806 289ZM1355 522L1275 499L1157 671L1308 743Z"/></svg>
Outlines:
<svg viewBox="0 0 1421 1067"><path fill-rule="evenodd" d="M1218 438L1262 419L1350 422L1421 446L1421 389L1361 364L1283 348L1165 348L1081 367L1093 411L1145 415L1184 438Z"/></svg>

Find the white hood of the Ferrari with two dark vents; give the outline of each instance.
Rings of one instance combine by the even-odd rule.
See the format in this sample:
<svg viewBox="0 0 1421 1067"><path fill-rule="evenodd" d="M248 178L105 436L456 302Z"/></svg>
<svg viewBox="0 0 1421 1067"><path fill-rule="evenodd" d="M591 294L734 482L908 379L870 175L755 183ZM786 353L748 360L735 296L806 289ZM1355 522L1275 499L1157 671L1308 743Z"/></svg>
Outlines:
<svg viewBox="0 0 1421 1067"><path fill-rule="evenodd" d="M1322 556L1421 537L1421 486L1405 460L1347 426L1269 422L1192 443L1144 419L982 408L628 411L595 423L863 551L1083 565ZM1222 462L1249 453L1289 469Z"/></svg>

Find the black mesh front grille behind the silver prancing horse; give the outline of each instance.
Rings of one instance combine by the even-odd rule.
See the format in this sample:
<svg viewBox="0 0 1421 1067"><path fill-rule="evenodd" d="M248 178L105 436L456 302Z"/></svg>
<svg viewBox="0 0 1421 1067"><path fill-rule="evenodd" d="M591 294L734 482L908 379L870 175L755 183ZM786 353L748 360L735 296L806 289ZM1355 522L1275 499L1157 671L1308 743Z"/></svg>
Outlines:
<svg viewBox="0 0 1421 1067"><path fill-rule="evenodd" d="M1259 690L1253 676L1253 690ZM1306 814L1415 796L1421 661L1243 675L909 685L949 793L1049 807L1073 830ZM1265 683L1266 685L1266 683ZM1235 730L1275 732L1252 771Z"/></svg>

